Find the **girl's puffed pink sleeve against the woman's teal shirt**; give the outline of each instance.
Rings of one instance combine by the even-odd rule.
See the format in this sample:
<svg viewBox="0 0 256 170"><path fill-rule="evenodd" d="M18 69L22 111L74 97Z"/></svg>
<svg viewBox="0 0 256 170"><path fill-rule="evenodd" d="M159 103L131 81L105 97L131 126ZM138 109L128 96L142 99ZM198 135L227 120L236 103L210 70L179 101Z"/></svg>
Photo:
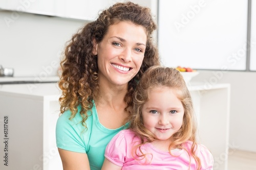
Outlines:
<svg viewBox="0 0 256 170"><path fill-rule="evenodd" d="M106 146L104 154L106 159L118 166L123 166L125 162L127 145L124 134L123 130L116 134Z"/></svg>

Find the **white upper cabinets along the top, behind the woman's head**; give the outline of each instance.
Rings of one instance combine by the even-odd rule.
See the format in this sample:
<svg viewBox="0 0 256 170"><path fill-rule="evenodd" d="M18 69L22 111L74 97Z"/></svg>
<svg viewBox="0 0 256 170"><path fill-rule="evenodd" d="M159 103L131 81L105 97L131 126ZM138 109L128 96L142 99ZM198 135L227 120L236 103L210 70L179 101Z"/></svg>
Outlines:
<svg viewBox="0 0 256 170"><path fill-rule="evenodd" d="M128 0L2 0L0 1L0 9L92 21L97 18L99 11L117 2L127 1ZM132 2L150 7L153 14L157 14L157 0L134 0Z"/></svg>

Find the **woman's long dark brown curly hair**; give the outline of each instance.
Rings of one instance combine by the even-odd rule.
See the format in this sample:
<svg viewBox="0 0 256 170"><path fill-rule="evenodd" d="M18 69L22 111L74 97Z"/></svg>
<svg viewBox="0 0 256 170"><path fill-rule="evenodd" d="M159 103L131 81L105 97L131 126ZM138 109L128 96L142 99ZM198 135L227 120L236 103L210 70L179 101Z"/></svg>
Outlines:
<svg viewBox="0 0 256 170"><path fill-rule="evenodd" d="M58 84L62 90L62 95L59 98L60 113L70 109L70 119L72 119L78 112L77 106L80 105L84 127L86 127L87 112L91 110L93 100L100 97L98 65L97 57L93 55L93 40L96 40L97 43L101 42L108 28L120 21L131 21L135 25L142 26L147 35L141 68L137 75L128 82L127 93L124 97L127 104L126 111L128 107L132 106L132 94L143 72L150 66L160 65L158 51L152 39L152 33L157 26L149 8L127 2L117 3L103 10L97 20L89 22L73 35L60 62L62 69Z"/></svg>

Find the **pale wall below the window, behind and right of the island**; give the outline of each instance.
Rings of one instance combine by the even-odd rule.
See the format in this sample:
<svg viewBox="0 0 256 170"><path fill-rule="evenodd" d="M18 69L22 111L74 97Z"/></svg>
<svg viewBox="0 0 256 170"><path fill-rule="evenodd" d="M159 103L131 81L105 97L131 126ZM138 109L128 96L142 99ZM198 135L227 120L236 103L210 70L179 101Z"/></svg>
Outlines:
<svg viewBox="0 0 256 170"><path fill-rule="evenodd" d="M256 152L256 72L199 71L191 81L203 81L206 88L230 83L230 148Z"/></svg>

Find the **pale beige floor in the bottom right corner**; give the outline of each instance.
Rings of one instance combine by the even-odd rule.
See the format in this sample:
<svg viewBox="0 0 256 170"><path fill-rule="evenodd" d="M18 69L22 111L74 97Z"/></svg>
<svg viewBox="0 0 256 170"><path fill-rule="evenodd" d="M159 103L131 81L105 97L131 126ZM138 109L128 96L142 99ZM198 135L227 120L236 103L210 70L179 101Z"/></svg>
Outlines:
<svg viewBox="0 0 256 170"><path fill-rule="evenodd" d="M228 170L256 170L256 153L232 151L228 155Z"/></svg>

